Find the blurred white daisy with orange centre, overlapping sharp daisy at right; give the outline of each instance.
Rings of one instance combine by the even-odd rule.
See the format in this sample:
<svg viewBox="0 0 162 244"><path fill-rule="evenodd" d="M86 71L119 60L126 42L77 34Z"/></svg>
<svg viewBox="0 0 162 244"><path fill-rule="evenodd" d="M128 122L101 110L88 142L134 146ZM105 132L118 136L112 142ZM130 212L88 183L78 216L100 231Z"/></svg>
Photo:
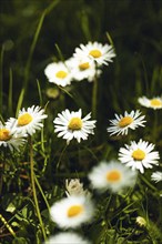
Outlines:
<svg viewBox="0 0 162 244"><path fill-rule="evenodd" d="M92 187L97 190L105 191L109 189L113 193L118 193L135 184L136 172L117 161L102 161L92 169L89 180Z"/></svg>

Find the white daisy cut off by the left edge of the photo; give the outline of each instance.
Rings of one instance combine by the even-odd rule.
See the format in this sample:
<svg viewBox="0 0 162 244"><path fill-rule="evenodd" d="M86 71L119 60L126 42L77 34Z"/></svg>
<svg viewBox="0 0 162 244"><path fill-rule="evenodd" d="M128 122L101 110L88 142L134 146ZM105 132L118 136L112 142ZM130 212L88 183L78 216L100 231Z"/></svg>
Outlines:
<svg viewBox="0 0 162 244"><path fill-rule="evenodd" d="M24 136L26 134L16 133L12 126L3 125L0 121L0 146L9 148L11 151L13 149L19 151L19 148L26 143Z"/></svg>

